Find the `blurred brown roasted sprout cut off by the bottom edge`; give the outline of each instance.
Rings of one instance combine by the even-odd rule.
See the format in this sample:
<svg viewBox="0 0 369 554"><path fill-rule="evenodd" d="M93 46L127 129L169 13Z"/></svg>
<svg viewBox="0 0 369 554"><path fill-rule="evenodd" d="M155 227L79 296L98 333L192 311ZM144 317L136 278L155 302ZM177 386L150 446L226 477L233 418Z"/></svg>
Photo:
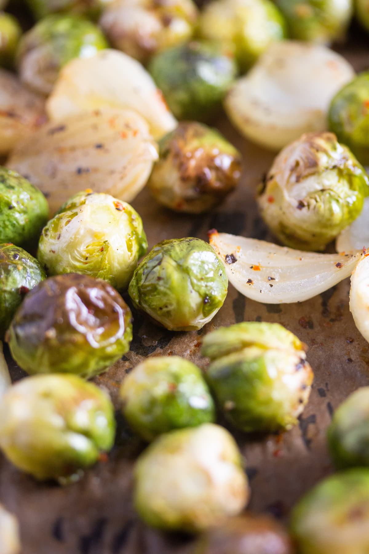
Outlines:
<svg viewBox="0 0 369 554"><path fill-rule="evenodd" d="M271 517L231 517L202 534L193 554L292 554L287 532Z"/></svg>

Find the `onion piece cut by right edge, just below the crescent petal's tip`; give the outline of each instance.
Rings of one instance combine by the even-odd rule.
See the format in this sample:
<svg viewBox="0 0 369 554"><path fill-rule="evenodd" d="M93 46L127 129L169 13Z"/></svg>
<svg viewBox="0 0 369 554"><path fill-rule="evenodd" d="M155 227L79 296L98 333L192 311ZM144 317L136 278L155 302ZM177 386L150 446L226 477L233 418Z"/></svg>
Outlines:
<svg viewBox="0 0 369 554"><path fill-rule="evenodd" d="M355 325L369 341L369 254L366 254L351 276L350 311Z"/></svg>

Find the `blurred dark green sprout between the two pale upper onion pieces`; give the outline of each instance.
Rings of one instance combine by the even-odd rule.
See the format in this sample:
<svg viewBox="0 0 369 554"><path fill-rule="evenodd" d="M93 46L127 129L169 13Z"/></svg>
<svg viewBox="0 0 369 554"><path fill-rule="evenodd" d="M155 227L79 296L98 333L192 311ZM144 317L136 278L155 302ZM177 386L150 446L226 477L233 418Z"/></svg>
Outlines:
<svg viewBox="0 0 369 554"><path fill-rule="evenodd" d="M178 119L206 121L235 79L235 62L216 43L190 42L155 55L149 71Z"/></svg>

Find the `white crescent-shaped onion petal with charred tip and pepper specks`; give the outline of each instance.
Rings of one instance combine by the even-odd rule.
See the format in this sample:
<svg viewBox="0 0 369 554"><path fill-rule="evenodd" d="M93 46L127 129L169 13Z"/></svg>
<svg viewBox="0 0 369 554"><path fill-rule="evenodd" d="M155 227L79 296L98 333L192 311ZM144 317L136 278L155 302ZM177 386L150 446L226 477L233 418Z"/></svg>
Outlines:
<svg viewBox="0 0 369 554"><path fill-rule="evenodd" d="M303 252L217 232L210 234L210 244L225 262L232 285L266 304L302 302L323 293L348 277L362 257Z"/></svg>

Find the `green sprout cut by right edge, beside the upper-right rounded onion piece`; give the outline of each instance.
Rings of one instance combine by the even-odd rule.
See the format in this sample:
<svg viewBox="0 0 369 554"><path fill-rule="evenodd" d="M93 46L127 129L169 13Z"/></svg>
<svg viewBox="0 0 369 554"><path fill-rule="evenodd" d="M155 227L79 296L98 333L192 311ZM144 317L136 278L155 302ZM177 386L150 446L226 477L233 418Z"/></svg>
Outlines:
<svg viewBox="0 0 369 554"><path fill-rule="evenodd" d="M329 129L351 148L358 161L369 165L369 71L344 86L332 99Z"/></svg>

